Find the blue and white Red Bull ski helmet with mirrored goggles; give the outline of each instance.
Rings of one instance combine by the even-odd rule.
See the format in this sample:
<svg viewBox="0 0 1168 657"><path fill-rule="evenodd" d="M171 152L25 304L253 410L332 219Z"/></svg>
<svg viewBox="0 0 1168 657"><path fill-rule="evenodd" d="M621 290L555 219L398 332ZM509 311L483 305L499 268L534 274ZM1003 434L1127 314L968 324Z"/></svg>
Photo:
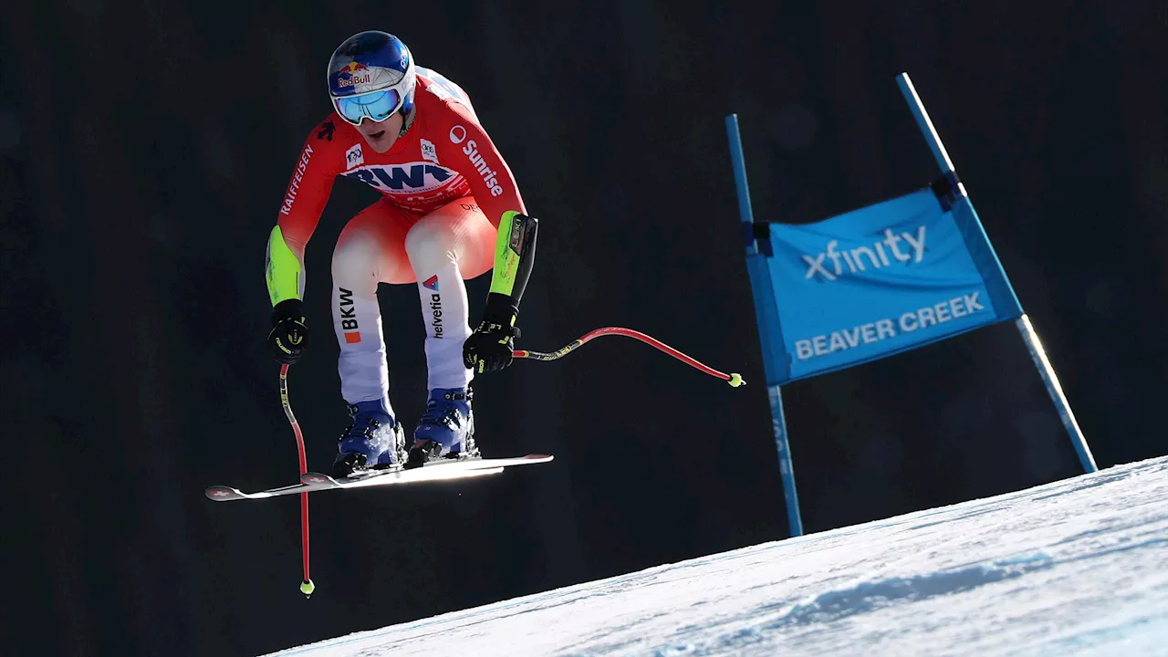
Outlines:
<svg viewBox="0 0 1168 657"><path fill-rule="evenodd" d="M368 30L345 40L328 60L328 95L342 119L381 123L402 112L401 134L413 123L413 55L392 34ZM399 136L401 136L399 134Z"/></svg>

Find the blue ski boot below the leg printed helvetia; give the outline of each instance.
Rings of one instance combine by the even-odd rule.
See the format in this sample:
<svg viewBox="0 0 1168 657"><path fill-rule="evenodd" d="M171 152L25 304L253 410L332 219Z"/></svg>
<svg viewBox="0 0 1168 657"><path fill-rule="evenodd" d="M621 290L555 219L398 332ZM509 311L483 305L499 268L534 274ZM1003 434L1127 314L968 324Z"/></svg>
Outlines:
<svg viewBox="0 0 1168 657"><path fill-rule="evenodd" d="M405 468L418 468L433 458L475 458L474 413L471 388L434 388L430 390L426 412L413 430Z"/></svg>

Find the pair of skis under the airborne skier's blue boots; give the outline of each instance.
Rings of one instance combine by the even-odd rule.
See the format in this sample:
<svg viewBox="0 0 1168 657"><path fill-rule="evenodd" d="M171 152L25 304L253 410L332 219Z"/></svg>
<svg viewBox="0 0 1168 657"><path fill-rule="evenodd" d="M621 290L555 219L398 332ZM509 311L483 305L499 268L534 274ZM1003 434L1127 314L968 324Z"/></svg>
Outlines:
<svg viewBox="0 0 1168 657"><path fill-rule="evenodd" d="M270 497L325 490L466 479L471 477L498 475L499 472L502 472L505 468L515 465L547 463L552 458L554 457L551 455L529 454L527 456L509 458L466 458L461 461L437 459L411 470L405 470L399 466L387 470L370 470L355 477L343 477L340 479L321 472L306 472L300 477L299 484L279 486L257 492L243 492L239 489L224 485L208 486L203 492L208 499L214 502L266 499Z"/></svg>

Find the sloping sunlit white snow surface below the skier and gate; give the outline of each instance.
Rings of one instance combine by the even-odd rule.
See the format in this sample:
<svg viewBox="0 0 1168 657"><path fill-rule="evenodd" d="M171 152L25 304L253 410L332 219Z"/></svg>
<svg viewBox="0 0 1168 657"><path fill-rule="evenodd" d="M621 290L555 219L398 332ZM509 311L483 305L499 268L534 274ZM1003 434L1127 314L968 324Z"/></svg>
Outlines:
<svg viewBox="0 0 1168 657"><path fill-rule="evenodd" d="M277 655L1168 655L1168 458Z"/></svg>

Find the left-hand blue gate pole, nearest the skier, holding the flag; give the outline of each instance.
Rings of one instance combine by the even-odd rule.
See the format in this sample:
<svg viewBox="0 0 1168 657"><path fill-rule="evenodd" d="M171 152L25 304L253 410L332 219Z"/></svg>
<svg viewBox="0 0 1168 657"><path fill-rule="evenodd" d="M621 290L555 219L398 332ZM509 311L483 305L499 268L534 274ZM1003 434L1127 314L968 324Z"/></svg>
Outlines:
<svg viewBox="0 0 1168 657"><path fill-rule="evenodd" d="M791 461L791 444L787 442L787 422L783 414L783 394L779 390L778 364L773 351L767 346L772 336L779 334L779 326L773 313L764 312L764 304L774 304L771 291L771 270L766 256L758 251L753 238L755 215L750 208L750 187L746 185L746 162L742 157L742 136L738 133L738 115L726 117L726 134L730 138L730 160L734 165L734 181L738 188L738 215L742 217L746 238L746 269L750 272L750 286L755 297L755 318L758 320L758 336L763 352L763 366L766 371L766 397L771 404L771 427L774 431L774 447L779 452L779 472L783 476L783 497L787 504L787 526L791 535L802 535L802 518L799 516L799 493L795 490L795 470Z"/></svg>

